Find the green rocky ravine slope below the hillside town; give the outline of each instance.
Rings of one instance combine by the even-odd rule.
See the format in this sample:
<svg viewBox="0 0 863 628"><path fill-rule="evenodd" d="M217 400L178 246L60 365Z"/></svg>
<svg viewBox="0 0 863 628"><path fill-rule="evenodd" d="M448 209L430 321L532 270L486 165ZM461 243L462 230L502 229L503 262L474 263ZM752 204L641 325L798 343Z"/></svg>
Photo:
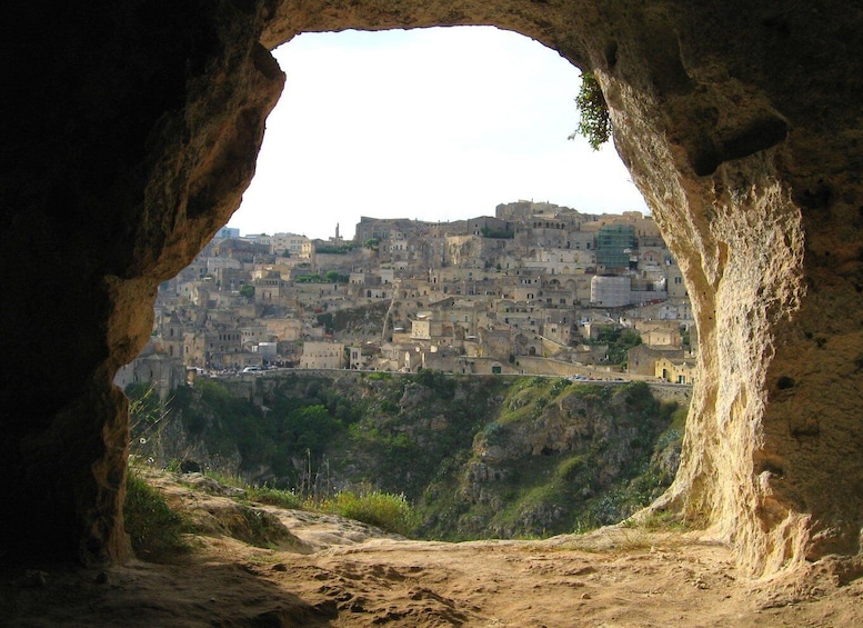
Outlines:
<svg viewBox="0 0 863 628"><path fill-rule="evenodd" d="M142 416L136 442L152 429ZM541 537L655 498L673 479L684 417L644 383L295 373L178 390L141 455L303 495L403 494L422 538Z"/></svg>

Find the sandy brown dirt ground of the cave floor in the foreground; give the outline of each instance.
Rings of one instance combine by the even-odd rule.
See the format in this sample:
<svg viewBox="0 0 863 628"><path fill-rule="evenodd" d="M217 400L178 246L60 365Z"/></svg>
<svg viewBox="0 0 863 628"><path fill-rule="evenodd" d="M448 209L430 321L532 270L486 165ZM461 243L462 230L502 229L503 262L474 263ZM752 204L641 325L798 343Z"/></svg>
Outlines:
<svg viewBox="0 0 863 628"><path fill-rule="evenodd" d="M0 626L863 626L863 579L844 582L824 564L753 580L704 534L616 527L444 544L261 507L291 531L262 549L217 531L235 501L159 482L175 506L212 524L188 556L103 570L7 567Z"/></svg>

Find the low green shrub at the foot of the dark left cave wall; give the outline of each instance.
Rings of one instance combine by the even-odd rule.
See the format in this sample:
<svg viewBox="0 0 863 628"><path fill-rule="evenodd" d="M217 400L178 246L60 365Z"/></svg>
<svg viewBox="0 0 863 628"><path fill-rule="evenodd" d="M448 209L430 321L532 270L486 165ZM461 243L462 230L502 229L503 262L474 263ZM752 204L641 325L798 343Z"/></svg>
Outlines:
<svg viewBox="0 0 863 628"><path fill-rule="evenodd" d="M171 510L161 491L131 468L126 475L123 525L138 558L167 562L190 549L183 535L192 531L191 522Z"/></svg>

